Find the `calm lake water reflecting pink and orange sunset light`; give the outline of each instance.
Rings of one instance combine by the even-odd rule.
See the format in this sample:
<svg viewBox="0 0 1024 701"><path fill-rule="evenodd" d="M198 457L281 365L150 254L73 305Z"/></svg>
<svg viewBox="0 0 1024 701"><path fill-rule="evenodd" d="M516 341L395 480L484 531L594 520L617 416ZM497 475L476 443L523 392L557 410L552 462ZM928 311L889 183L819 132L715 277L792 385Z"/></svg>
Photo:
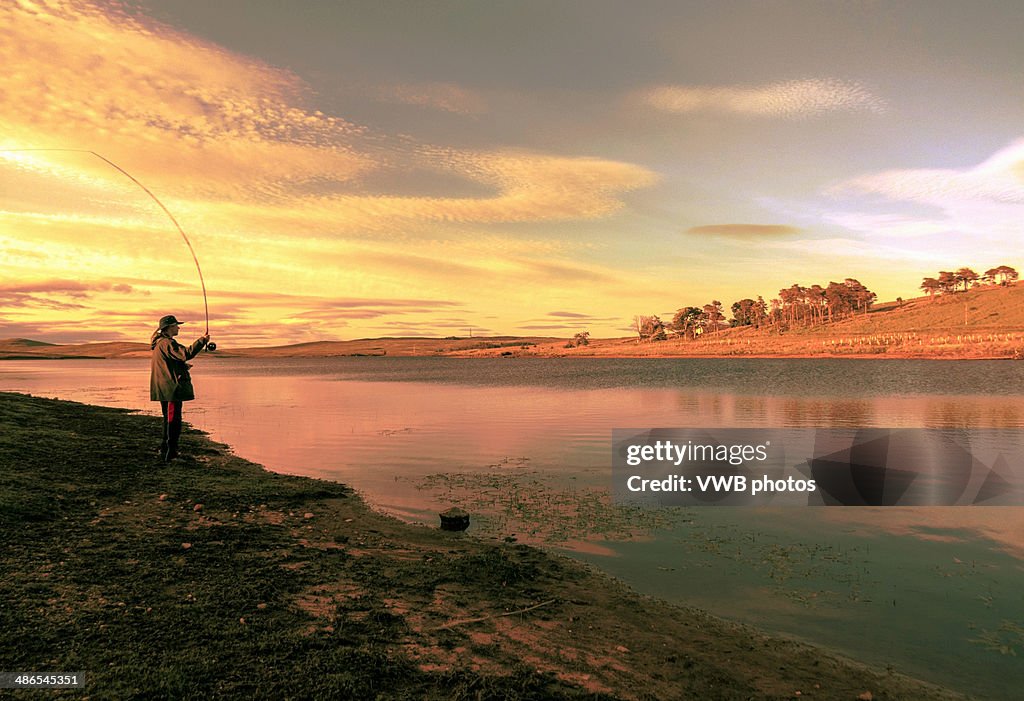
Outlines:
<svg viewBox="0 0 1024 701"><path fill-rule="evenodd" d="M1024 363L250 360L206 354L185 420L240 455L979 698L1024 687L1024 508L638 510L613 428L1024 428ZM159 412L147 360L2 361L0 389ZM157 406L157 411L154 407ZM158 438L159 440L159 438Z"/></svg>

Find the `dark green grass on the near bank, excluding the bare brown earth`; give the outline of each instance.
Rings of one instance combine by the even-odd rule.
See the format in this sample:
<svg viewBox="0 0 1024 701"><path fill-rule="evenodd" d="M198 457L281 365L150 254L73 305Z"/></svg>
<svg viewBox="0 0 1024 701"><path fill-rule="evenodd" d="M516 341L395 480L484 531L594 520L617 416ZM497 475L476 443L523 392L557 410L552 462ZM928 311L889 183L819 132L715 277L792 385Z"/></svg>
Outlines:
<svg viewBox="0 0 1024 701"><path fill-rule="evenodd" d="M429 587L430 578L482 572L497 590L531 574L507 557L453 558L424 582L337 550L296 554L294 524L244 517L347 499L347 488L242 461L165 468L154 450L158 420L117 409L0 394L0 426L5 670L84 672L90 698L111 699L594 698L524 667L425 672L395 645L408 629L374 594L386 580ZM195 433L183 449L218 452ZM217 514L202 525L200 501L202 514ZM295 600L342 576L366 594L337 604L336 630L311 631ZM344 615L352 612L364 615Z"/></svg>

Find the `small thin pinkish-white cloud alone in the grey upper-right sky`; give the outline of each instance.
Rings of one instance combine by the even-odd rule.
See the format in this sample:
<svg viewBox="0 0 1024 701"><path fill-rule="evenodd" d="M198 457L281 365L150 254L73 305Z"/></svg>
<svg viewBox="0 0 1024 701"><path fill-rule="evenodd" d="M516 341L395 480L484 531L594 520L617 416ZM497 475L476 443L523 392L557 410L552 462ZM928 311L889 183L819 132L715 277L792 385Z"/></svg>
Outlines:
<svg viewBox="0 0 1024 701"><path fill-rule="evenodd" d="M835 112L883 113L886 101L856 81L816 78L755 86L662 85L640 93L649 106L677 115L816 117Z"/></svg>

